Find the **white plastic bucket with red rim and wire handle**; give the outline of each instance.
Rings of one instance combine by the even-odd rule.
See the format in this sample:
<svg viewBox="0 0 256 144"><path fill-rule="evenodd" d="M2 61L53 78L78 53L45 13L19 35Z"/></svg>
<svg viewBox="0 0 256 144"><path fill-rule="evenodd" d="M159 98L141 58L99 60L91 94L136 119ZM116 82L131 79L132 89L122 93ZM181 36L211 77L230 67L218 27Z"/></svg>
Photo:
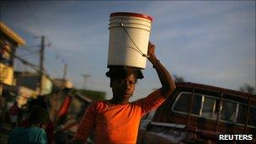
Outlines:
<svg viewBox="0 0 256 144"><path fill-rule="evenodd" d="M109 66L146 68L152 17L141 13L111 13Z"/></svg>

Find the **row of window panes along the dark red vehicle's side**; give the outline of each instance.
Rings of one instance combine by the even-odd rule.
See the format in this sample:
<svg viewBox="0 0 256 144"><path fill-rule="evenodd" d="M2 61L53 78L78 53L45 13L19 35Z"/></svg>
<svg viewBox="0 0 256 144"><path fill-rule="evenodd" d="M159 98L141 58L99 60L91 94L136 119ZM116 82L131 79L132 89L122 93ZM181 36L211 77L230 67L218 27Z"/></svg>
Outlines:
<svg viewBox="0 0 256 144"><path fill-rule="evenodd" d="M173 112L188 115L191 96L191 92L179 93L172 107ZM195 93L191 114L196 117L216 120L219 104L221 104L220 119L222 122L245 125L248 104L232 99L222 99L222 103L220 103L220 99L217 97ZM256 107L253 105L249 109L248 126L256 127L255 121Z"/></svg>

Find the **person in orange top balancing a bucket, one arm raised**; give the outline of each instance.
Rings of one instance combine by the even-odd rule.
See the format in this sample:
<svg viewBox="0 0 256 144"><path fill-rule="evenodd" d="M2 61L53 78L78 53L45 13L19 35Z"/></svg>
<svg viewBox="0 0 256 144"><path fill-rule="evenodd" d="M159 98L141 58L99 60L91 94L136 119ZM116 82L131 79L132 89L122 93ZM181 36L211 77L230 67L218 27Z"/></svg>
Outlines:
<svg viewBox="0 0 256 144"><path fill-rule="evenodd" d="M137 79L143 78L141 70L135 67L109 67L106 75L110 77L113 98L96 101L88 107L70 143L83 143L93 129L96 143L136 143L142 115L163 104L176 88L173 78L155 55L155 45L149 43L147 55L162 88L144 99L129 102Z"/></svg>

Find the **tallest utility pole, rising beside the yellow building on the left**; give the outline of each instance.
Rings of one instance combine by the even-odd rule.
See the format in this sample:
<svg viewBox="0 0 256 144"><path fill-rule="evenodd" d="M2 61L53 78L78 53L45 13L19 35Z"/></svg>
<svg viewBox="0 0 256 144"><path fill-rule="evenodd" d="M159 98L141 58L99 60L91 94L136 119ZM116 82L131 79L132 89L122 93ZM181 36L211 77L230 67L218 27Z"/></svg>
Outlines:
<svg viewBox="0 0 256 144"><path fill-rule="evenodd" d="M39 93L42 93L42 79L44 73L44 53L45 53L45 36L41 36L40 46L40 82L39 82Z"/></svg>

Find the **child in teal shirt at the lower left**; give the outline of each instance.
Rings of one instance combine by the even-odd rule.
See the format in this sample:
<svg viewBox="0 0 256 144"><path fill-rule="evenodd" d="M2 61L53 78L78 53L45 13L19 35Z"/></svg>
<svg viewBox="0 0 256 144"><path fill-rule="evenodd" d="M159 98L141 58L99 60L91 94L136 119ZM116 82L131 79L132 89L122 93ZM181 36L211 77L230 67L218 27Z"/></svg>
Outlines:
<svg viewBox="0 0 256 144"><path fill-rule="evenodd" d="M45 128L50 121L48 112L33 106L27 126L15 127L9 135L8 144L47 144Z"/></svg>

